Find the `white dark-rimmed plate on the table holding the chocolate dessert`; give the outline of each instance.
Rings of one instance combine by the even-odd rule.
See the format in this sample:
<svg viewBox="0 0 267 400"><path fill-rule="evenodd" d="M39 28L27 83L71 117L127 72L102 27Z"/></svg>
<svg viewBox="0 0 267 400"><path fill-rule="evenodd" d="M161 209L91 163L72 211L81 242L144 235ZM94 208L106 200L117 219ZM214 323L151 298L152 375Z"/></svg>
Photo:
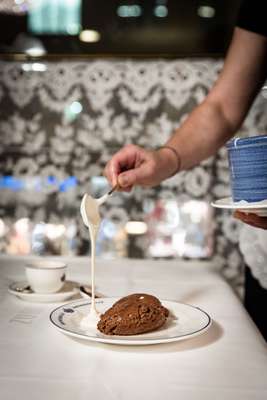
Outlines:
<svg viewBox="0 0 267 400"><path fill-rule="evenodd" d="M102 314L117 300L119 298L114 297L96 299L96 307ZM211 325L210 316L198 307L165 300L161 300L161 303L170 311L166 324L154 332L140 335L104 335L97 330L96 326L83 329L81 320L90 311L90 300L76 301L56 308L50 314L50 321L60 332L75 338L126 346L170 343L189 339L204 333Z"/></svg>

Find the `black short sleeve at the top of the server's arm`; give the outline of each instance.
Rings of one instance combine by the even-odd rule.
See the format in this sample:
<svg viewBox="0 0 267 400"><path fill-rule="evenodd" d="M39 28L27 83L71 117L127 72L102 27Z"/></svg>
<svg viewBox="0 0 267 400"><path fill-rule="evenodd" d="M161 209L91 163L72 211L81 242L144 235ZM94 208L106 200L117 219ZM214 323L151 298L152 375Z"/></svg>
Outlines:
<svg viewBox="0 0 267 400"><path fill-rule="evenodd" d="M267 36L267 1L243 0L241 2L236 26L247 31Z"/></svg>

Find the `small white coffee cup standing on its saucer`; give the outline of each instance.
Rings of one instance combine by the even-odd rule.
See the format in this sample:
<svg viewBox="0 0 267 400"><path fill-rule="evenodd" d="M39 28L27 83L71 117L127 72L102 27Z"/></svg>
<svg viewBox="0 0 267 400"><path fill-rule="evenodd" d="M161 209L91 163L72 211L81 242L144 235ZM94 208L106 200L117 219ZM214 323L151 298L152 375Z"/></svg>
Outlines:
<svg viewBox="0 0 267 400"><path fill-rule="evenodd" d="M36 293L55 293L64 285L67 265L60 261L32 261L26 264L27 281Z"/></svg>

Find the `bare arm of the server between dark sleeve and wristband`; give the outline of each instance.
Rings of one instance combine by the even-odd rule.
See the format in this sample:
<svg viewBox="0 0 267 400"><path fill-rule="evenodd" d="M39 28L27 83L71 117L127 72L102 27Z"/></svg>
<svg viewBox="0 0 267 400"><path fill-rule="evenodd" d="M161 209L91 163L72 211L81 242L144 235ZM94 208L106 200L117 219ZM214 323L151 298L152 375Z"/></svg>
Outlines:
<svg viewBox="0 0 267 400"><path fill-rule="evenodd" d="M240 127L266 78L266 55L265 37L235 29L219 79L167 143L180 154L181 169L214 154Z"/></svg>

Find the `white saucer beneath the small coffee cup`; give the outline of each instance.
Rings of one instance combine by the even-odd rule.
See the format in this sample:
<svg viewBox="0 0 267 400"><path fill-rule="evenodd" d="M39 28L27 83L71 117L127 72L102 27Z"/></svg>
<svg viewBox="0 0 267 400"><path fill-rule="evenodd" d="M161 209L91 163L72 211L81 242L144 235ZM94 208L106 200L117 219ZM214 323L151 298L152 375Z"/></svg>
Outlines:
<svg viewBox="0 0 267 400"><path fill-rule="evenodd" d="M8 291L22 300L37 303L58 303L79 294L79 284L72 281L66 281L63 288L56 293L43 294L32 291L23 291L23 288L27 286L28 283L26 281L13 282L9 285Z"/></svg>

